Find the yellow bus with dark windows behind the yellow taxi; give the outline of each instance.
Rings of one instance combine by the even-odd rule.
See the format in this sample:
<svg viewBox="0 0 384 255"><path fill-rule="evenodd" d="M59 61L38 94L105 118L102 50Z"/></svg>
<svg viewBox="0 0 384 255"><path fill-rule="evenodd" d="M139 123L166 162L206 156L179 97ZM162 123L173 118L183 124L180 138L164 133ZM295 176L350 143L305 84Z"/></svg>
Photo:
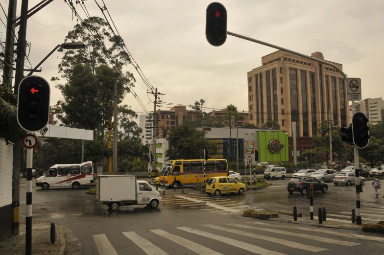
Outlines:
<svg viewBox="0 0 384 255"><path fill-rule="evenodd" d="M205 161L205 181L215 176L228 176L228 162L224 159ZM204 183L204 160L170 160L160 173L160 185L178 188Z"/></svg>

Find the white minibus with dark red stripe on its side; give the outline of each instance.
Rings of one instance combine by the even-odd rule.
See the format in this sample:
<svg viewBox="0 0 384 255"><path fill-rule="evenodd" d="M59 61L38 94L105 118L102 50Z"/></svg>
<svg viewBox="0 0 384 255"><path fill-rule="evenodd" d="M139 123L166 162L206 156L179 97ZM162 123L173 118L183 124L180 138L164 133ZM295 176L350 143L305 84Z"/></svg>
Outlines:
<svg viewBox="0 0 384 255"><path fill-rule="evenodd" d="M48 172L36 179L36 186L42 189L49 187L79 188L83 184L94 182L94 167L92 161L81 164L55 164Z"/></svg>

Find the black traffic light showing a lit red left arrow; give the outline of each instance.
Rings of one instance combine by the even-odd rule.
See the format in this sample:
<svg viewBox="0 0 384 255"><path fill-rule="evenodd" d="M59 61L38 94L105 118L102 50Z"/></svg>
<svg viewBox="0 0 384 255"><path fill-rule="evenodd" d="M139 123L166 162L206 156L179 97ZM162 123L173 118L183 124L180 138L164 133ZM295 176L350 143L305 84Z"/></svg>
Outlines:
<svg viewBox="0 0 384 255"><path fill-rule="evenodd" d="M40 131L49 120L48 82L40 76L27 76L19 85L17 121L26 131Z"/></svg>

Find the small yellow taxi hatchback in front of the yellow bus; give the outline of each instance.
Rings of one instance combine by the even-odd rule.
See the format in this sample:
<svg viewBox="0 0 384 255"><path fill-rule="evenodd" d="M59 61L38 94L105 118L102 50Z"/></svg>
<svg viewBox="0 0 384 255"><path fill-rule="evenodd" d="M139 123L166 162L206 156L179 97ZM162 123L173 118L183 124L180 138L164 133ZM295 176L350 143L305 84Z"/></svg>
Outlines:
<svg viewBox="0 0 384 255"><path fill-rule="evenodd" d="M231 177L212 177L205 185L205 192L208 195L215 194L219 196L221 193L235 193L239 192L240 195L244 194L246 190L245 184L237 182Z"/></svg>

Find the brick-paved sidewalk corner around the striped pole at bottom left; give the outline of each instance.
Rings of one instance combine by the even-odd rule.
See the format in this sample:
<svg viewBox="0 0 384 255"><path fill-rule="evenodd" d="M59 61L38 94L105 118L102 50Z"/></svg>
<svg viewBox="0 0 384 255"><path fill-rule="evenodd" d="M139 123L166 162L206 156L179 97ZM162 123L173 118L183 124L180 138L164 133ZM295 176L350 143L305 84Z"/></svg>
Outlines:
<svg viewBox="0 0 384 255"><path fill-rule="evenodd" d="M50 243L50 222L32 220L33 255L81 255L81 244L73 232L61 225L56 227L56 243ZM25 254L25 221L20 222L20 235L0 243L1 254Z"/></svg>

